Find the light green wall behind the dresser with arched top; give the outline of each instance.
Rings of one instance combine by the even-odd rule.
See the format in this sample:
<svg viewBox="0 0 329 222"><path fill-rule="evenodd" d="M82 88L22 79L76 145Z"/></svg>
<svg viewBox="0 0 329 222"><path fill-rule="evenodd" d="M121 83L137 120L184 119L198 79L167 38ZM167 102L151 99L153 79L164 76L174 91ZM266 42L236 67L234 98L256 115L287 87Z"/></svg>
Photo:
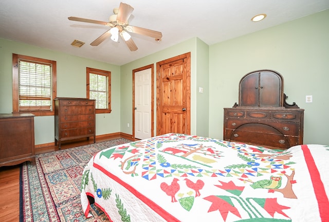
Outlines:
<svg viewBox="0 0 329 222"><path fill-rule="evenodd" d="M248 72L273 69L287 102L304 111L304 143L329 145L329 10L209 47L209 136L223 138L223 108L238 102ZM312 95L313 103L305 103Z"/></svg>

